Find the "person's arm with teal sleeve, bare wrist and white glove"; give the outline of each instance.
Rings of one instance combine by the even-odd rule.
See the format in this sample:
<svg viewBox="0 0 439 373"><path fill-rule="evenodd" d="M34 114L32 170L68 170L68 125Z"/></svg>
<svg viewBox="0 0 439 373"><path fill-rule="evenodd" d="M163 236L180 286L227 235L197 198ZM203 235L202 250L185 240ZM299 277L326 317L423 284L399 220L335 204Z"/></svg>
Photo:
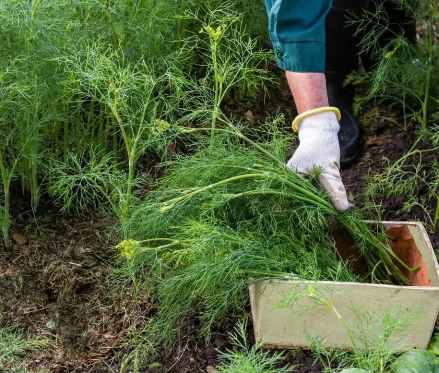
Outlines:
<svg viewBox="0 0 439 373"><path fill-rule="evenodd" d="M331 0L266 0L276 62L286 70L299 113L299 147L287 166L307 175L321 167L319 182L339 211L352 207L339 172L338 116L326 91L324 18ZM317 109L317 111L316 111Z"/></svg>

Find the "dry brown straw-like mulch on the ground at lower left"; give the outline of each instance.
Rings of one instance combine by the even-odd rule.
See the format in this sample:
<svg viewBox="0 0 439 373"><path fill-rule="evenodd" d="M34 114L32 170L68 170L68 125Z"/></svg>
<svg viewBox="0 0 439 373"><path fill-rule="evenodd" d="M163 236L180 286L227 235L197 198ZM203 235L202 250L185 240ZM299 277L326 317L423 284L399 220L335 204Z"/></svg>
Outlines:
<svg viewBox="0 0 439 373"><path fill-rule="evenodd" d="M43 222L18 223L12 250L0 251L2 322L53 344L32 357L26 372L89 372L115 355L148 305L108 291L115 221L47 215Z"/></svg>

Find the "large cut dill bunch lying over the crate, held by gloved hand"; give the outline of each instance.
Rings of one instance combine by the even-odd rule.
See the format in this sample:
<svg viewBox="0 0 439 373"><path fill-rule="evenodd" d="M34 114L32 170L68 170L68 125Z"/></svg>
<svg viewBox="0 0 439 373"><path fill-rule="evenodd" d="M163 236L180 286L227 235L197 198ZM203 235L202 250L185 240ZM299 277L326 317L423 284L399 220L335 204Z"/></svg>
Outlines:
<svg viewBox="0 0 439 373"><path fill-rule="evenodd" d="M338 213L323 191L285 167L279 149L290 136L229 128L216 130L213 145L166 163L166 176L124 226L134 241L113 280L152 295L152 339L171 343L189 311L209 337L214 322L245 311L247 287L262 279L367 281L339 258L327 217L354 238L372 278L408 282L385 236L376 237L359 211ZM258 135L268 140L254 142Z"/></svg>

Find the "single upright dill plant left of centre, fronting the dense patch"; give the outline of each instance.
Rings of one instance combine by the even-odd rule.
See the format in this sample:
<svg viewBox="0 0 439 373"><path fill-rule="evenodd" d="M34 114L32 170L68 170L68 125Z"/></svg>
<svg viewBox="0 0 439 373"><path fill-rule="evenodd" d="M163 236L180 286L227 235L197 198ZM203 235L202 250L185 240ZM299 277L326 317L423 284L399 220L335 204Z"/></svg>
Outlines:
<svg viewBox="0 0 439 373"><path fill-rule="evenodd" d="M127 63L117 52L105 50L99 44L89 46L85 58L76 54L62 57L59 62L69 73L65 86L72 98L79 98L79 106L90 99L99 103L114 131L115 153L119 148L115 136L120 134L128 171L125 191L119 196L122 203L118 216L125 220L131 207L139 157L149 148L160 151L167 144L166 136L162 135L169 127L162 118L167 118L172 110L167 75L156 75L143 60L134 65Z"/></svg>

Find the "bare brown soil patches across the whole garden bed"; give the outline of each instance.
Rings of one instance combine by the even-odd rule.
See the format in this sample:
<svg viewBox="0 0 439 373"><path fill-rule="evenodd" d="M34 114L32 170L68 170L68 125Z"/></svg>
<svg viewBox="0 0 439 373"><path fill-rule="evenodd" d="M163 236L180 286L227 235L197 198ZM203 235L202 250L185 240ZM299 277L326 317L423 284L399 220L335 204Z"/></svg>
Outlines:
<svg viewBox="0 0 439 373"><path fill-rule="evenodd" d="M277 112L285 114L288 124L295 115L285 83L270 89L265 103L262 99L231 103L225 110L249 124ZM394 124L402 122L401 113L383 111L379 120L363 128L359 162L342 172L348 193L360 203L369 203L362 197L364 175L380 173L382 157L397 159L415 138ZM420 193L426 193L425 188L420 187ZM129 293L108 291L111 248L117 242L115 221L94 216L66 218L50 205L43 206L34 220L26 213L29 203L18 192L13 197L15 244L11 251L0 250L0 309L5 311L1 322L13 323L31 334L40 333L53 343L53 348L28 359L26 372L111 372L108 367L119 372L121 356L129 351L119 346L130 330L141 328L150 308L146 296L133 301ZM383 219L425 220L422 208L399 211L406 199L382 196L375 203L382 204ZM430 239L439 248L439 232L430 234ZM216 349L231 348L227 334L233 332L234 325L232 319L215 325L211 343L205 344L197 337L198 323L188 315L172 348L163 349L152 361L167 369L152 364L144 372L214 372L212 366L218 364ZM300 373L322 371L309 352L289 352L285 362L298 365Z"/></svg>

